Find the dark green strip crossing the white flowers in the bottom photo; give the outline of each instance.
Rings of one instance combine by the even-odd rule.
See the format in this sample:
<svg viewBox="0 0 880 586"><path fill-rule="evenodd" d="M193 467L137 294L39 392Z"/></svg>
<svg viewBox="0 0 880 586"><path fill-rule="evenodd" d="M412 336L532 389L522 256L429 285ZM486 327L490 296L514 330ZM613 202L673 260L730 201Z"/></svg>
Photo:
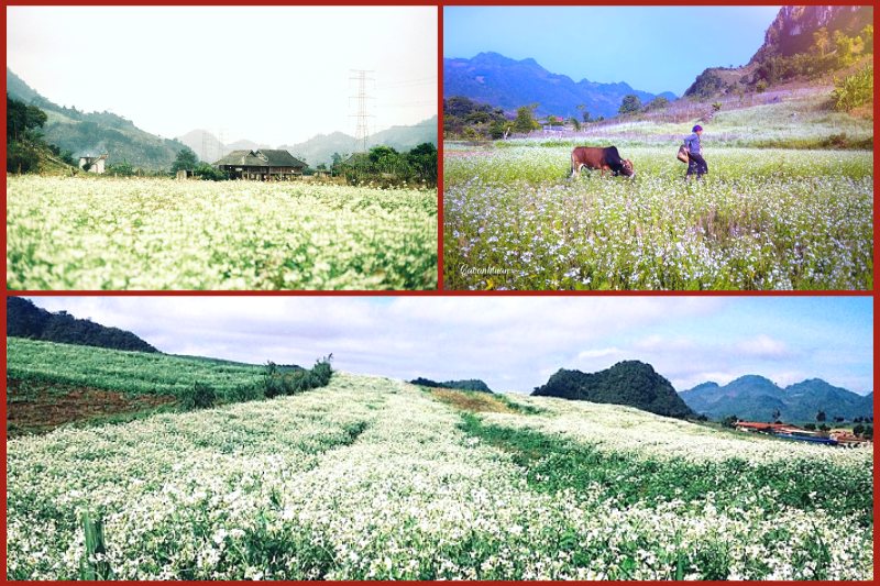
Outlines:
<svg viewBox="0 0 880 586"><path fill-rule="evenodd" d="M622 507L636 502L657 506L673 499L703 506L711 494L717 507L736 508L747 506L766 489L777 491L778 502L792 508L853 515L862 527L873 521L871 478L842 474L827 462L689 462L672 454L663 460L637 457L535 430L484 423L468 412L460 427L509 454L525 469L529 486L539 491L579 495L600 490Z"/></svg>

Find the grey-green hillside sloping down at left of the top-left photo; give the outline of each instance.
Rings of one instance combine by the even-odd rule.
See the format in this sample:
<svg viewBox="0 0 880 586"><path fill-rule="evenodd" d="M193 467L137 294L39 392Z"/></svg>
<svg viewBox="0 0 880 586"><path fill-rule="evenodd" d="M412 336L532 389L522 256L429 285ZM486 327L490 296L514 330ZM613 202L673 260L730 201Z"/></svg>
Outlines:
<svg viewBox="0 0 880 586"><path fill-rule="evenodd" d="M108 164L128 162L144 169L167 169L183 143L150 134L111 112L80 112L41 96L7 67L7 93L37 106L47 115L42 131L46 142L69 151L74 158L107 153Z"/></svg>

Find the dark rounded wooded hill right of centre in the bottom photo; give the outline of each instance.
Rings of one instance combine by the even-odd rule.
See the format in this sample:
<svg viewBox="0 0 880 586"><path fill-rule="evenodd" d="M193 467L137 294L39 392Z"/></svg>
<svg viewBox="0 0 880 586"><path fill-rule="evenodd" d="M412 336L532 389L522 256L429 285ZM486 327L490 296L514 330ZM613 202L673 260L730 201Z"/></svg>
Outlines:
<svg viewBox="0 0 880 586"><path fill-rule="evenodd" d="M657 374L650 364L639 361L619 362L593 374L560 369L532 395L628 405L668 417L693 414L669 380Z"/></svg>

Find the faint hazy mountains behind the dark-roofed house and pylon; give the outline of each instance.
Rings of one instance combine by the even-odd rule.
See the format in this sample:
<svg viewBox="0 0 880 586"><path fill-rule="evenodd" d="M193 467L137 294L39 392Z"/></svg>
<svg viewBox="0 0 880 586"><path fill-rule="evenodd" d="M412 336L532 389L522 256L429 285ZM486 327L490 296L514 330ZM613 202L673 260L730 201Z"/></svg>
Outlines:
<svg viewBox="0 0 880 586"><path fill-rule="evenodd" d="M219 154L232 151L252 151L254 148L268 148L271 145L255 143L249 140L235 141L234 143L221 144L220 141L208 131L194 130L178 141L190 147L202 161L213 163L220 158ZM409 151L421 143L437 144L437 117L424 120L410 126L392 126L370 135L367 146L380 144L391 146L397 151ZM349 155L354 152L354 136L344 132L331 132L330 134L317 134L308 141L296 144L283 144L278 146L288 151L300 161L305 161L310 167L316 167L323 163L332 163L333 153ZM207 157L207 158L206 158Z"/></svg>

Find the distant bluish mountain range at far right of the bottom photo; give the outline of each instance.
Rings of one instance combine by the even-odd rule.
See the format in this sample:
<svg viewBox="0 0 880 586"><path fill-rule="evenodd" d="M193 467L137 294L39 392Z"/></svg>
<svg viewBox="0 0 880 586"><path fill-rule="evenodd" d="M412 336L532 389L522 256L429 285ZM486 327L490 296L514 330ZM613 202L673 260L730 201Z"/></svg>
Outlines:
<svg viewBox="0 0 880 586"><path fill-rule="evenodd" d="M791 422L814 421L818 411L825 411L829 421L835 417L853 420L873 414L872 395L862 397L820 378L783 389L762 376L748 375L724 386L703 383L679 396L691 409L713 419L737 416L769 421L777 410L781 420Z"/></svg>

